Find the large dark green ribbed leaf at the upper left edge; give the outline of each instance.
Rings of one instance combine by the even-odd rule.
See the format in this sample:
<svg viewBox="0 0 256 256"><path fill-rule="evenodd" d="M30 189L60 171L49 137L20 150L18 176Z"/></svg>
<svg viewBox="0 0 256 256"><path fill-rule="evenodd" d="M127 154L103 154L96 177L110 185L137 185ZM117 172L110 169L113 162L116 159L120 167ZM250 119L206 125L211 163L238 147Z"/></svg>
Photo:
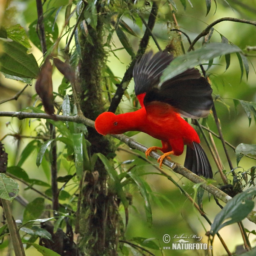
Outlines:
<svg viewBox="0 0 256 256"><path fill-rule="evenodd" d="M0 55L0 71L21 78L36 78L39 67L27 48L15 41L2 42L3 53Z"/></svg>

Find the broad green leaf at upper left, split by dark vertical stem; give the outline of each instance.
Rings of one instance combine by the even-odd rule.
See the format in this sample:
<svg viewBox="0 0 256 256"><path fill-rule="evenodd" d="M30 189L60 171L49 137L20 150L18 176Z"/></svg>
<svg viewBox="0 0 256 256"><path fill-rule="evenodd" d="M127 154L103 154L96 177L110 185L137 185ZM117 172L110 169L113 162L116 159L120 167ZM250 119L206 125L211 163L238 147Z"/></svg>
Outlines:
<svg viewBox="0 0 256 256"><path fill-rule="evenodd" d="M48 17L47 17L48 16ZM44 30L46 37L46 47L49 49L58 39L58 25L54 22L54 17L47 15L44 17ZM29 25L29 39L38 49L41 49L41 42L38 37L37 29L38 20L34 20ZM42 50L42 49L41 49Z"/></svg>

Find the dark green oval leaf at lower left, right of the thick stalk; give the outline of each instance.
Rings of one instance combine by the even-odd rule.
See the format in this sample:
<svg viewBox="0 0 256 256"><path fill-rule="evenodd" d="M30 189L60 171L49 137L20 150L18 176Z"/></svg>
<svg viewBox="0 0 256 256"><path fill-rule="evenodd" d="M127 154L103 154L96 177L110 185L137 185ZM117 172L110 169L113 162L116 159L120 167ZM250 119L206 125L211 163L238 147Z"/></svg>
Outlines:
<svg viewBox="0 0 256 256"><path fill-rule="evenodd" d="M23 213L23 224L27 221L34 221L42 215L44 212L44 198L35 198L30 202Z"/></svg>

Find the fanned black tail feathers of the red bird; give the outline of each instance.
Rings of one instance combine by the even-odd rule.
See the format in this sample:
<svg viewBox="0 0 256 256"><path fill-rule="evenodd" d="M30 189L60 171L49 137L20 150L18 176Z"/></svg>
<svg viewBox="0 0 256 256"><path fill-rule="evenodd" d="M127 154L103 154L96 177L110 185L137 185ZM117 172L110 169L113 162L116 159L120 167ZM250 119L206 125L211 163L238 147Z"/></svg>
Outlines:
<svg viewBox="0 0 256 256"><path fill-rule="evenodd" d="M199 143L193 142L194 148L187 146L184 167L198 176L212 179L212 167L204 149Z"/></svg>

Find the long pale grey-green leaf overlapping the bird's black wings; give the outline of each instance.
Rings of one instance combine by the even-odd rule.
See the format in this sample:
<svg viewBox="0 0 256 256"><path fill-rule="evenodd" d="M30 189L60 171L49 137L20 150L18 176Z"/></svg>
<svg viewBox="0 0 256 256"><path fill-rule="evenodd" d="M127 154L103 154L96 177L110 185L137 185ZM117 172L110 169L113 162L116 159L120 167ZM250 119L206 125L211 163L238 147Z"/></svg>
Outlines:
<svg viewBox="0 0 256 256"><path fill-rule="evenodd" d="M241 52L241 49L230 44L211 43L204 45L201 49L178 56L163 71L159 86L163 84L163 82L172 79L189 68L205 63L217 56L232 52Z"/></svg>

